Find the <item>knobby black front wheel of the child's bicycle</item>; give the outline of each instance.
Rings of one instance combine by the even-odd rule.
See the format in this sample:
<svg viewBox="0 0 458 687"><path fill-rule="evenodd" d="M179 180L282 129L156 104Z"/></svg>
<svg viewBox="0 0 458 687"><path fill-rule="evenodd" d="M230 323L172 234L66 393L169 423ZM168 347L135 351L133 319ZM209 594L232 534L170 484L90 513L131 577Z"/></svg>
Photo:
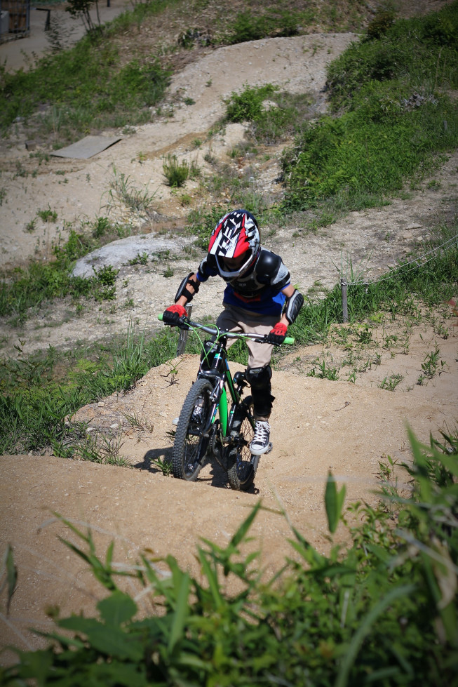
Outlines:
<svg viewBox="0 0 458 687"><path fill-rule="evenodd" d="M202 436L202 432L210 419L211 392L210 382L199 379L184 399L173 444L172 472L179 479L195 481L203 466L208 436Z"/></svg>

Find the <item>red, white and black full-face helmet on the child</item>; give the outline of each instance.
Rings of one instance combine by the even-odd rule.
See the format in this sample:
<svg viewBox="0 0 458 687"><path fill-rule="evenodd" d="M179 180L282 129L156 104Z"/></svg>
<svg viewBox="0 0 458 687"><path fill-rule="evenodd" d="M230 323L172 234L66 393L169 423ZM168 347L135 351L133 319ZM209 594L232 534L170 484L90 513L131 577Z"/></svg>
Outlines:
<svg viewBox="0 0 458 687"><path fill-rule="evenodd" d="M261 250L260 230L256 218L247 210L234 210L224 215L210 236L208 254L214 255L223 279L236 279L257 259ZM246 260L236 269L228 269L222 258L236 260L246 253Z"/></svg>

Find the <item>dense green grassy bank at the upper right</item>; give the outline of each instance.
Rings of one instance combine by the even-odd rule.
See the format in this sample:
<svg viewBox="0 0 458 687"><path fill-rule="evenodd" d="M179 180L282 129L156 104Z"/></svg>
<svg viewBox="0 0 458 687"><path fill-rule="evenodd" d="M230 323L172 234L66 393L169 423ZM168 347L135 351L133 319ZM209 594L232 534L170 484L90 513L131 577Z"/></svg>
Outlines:
<svg viewBox="0 0 458 687"><path fill-rule="evenodd" d="M337 197L347 210L370 206L457 147L458 108L447 94L458 84L457 35L454 2L424 18L398 20L332 62L334 116L306 124L283 154L285 210Z"/></svg>

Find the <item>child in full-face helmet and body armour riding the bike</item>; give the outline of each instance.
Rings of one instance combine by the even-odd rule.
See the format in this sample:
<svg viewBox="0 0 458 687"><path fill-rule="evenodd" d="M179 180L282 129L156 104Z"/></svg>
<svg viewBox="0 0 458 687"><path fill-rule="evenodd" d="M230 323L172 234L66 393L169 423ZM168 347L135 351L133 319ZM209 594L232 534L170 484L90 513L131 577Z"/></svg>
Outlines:
<svg viewBox="0 0 458 687"><path fill-rule="evenodd" d="M165 324L180 324L180 318L186 316L184 306L209 276L220 276L227 282L222 302L224 310L217 319L217 327L268 335L267 344L247 341L248 367L245 371L256 420L250 451L253 455L262 455L271 448L272 349L285 340L288 325L295 321L304 297L290 283L290 273L281 258L262 248L257 220L246 210L232 211L217 222L206 258L197 272L183 279L174 305L164 311Z"/></svg>

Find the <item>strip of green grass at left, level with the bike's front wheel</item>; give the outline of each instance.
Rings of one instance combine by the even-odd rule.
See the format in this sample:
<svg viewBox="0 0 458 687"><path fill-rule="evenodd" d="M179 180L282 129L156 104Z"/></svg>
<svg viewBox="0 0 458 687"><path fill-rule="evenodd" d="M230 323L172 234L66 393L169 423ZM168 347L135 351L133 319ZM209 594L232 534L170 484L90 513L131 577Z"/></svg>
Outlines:
<svg viewBox="0 0 458 687"><path fill-rule="evenodd" d="M130 389L175 352L169 331L149 341L130 331L90 357L87 351L75 357L50 349L25 359L19 351L18 359L0 366L1 453L80 455L81 427L66 424L65 418L86 403Z"/></svg>

